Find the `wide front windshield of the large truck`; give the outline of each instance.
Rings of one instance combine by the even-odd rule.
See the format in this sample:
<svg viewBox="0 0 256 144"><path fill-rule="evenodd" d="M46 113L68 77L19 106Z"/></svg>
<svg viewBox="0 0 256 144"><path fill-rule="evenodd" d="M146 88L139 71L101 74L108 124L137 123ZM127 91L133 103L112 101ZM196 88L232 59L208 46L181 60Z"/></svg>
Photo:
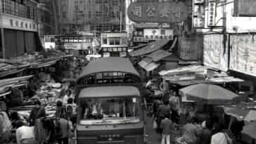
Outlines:
<svg viewBox="0 0 256 144"><path fill-rule="evenodd" d="M83 98L79 101L82 101L80 124L130 124L141 121L139 97ZM123 122L124 118L127 122Z"/></svg>

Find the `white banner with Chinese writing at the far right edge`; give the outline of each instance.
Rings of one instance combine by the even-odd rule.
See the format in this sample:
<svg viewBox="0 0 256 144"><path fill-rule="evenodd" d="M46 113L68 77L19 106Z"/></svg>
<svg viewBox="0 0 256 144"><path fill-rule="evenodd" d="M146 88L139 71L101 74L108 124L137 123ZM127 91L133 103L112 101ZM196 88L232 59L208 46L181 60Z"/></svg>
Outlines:
<svg viewBox="0 0 256 144"><path fill-rule="evenodd" d="M256 76L256 44L252 35L230 37L230 70Z"/></svg>

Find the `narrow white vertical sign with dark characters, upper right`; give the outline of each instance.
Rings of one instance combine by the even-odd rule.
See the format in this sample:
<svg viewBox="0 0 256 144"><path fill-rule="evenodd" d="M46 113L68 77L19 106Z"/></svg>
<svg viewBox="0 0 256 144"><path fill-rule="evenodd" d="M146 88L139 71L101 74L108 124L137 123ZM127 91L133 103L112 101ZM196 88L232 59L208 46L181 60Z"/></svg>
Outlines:
<svg viewBox="0 0 256 144"><path fill-rule="evenodd" d="M215 16L216 16L216 2L211 1L208 4L208 17L207 17L208 27L215 27Z"/></svg>

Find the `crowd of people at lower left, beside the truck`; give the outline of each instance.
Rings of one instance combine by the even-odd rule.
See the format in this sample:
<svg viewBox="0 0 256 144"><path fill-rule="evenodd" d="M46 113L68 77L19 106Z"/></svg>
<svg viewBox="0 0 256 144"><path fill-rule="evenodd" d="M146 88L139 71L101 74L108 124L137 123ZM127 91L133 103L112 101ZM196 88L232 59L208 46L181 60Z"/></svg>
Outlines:
<svg viewBox="0 0 256 144"><path fill-rule="evenodd" d="M73 135L76 112L77 105L70 90L66 91L63 99L56 100L54 117L46 117L44 105L35 100L27 121L21 119L17 111L11 111L11 129L1 136L0 143L68 144L68 138Z"/></svg>

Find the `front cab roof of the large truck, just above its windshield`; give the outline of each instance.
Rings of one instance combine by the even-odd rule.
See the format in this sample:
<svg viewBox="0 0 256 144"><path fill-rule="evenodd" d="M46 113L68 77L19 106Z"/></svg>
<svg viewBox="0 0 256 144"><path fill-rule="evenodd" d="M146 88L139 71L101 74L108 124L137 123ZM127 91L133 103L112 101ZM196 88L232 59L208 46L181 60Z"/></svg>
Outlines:
<svg viewBox="0 0 256 144"><path fill-rule="evenodd" d="M84 88L78 98L108 98L122 96L140 96L139 89L134 86L98 86Z"/></svg>

